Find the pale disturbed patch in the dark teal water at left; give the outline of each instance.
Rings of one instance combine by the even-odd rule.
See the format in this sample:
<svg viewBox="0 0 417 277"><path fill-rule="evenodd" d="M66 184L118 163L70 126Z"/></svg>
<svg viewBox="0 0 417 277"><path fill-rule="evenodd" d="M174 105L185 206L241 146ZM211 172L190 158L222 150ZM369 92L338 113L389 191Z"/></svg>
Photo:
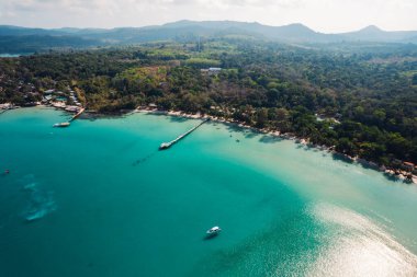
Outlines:
<svg viewBox="0 0 417 277"><path fill-rule="evenodd" d="M23 212L27 221L41 219L56 209L53 193L40 188L37 183L30 183L23 189L29 195L29 205Z"/></svg>

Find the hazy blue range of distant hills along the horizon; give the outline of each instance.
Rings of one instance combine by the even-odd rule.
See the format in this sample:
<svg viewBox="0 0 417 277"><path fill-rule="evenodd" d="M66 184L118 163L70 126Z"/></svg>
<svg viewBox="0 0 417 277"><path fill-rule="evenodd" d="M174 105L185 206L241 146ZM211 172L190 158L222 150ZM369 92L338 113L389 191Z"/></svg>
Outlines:
<svg viewBox="0 0 417 277"><path fill-rule="evenodd" d="M58 48L132 45L155 41L189 42L214 37L239 37L289 44L327 44L346 42L414 43L417 31L385 32L376 26L342 33L324 34L303 24L268 26L259 23L234 21L179 21L158 26L120 28L25 28L0 26L1 53L34 53Z"/></svg>

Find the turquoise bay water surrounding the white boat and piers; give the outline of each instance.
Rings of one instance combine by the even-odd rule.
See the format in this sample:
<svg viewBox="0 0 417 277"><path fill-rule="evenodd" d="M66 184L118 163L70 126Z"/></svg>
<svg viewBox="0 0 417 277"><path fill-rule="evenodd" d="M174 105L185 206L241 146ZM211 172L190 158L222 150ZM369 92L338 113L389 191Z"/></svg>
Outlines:
<svg viewBox="0 0 417 277"><path fill-rule="evenodd" d="M233 125L158 151L200 120L68 117L0 115L0 276L417 275L417 185Z"/></svg>

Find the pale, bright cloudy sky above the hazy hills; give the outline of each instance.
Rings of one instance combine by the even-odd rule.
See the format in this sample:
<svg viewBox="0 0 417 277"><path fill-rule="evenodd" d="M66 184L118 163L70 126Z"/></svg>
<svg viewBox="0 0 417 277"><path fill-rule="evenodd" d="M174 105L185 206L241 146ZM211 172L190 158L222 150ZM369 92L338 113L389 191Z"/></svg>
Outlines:
<svg viewBox="0 0 417 277"><path fill-rule="evenodd" d="M376 25L417 31L417 0L0 0L0 24L29 27L121 27L179 20L232 20L323 33Z"/></svg>

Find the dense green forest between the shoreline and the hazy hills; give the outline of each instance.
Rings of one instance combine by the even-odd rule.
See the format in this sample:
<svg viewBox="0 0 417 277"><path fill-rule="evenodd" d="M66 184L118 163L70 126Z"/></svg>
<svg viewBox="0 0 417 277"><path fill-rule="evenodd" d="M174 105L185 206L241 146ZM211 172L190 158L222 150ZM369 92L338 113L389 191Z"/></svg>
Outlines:
<svg viewBox="0 0 417 277"><path fill-rule="evenodd" d="M377 164L417 163L415 45L229 37L0 59L0 103L40 101L48 89L76 90L99 113L153 103L291 132Z"/></svg>

